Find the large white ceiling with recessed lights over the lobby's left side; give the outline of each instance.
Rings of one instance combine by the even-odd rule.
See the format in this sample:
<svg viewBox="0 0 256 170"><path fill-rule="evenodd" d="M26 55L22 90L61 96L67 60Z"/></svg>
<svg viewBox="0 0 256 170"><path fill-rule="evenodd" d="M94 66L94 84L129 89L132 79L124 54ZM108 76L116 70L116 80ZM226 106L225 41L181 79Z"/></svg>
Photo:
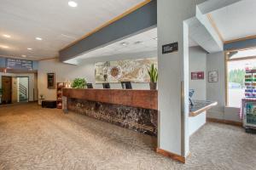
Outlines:
<svg viewBox="0 0 256 170"><path fill-rule="evenodd" d="M0 55L55 57L61 48L144 0L74 1L77 8L69 7L68 0L0 0Z"/></svg>

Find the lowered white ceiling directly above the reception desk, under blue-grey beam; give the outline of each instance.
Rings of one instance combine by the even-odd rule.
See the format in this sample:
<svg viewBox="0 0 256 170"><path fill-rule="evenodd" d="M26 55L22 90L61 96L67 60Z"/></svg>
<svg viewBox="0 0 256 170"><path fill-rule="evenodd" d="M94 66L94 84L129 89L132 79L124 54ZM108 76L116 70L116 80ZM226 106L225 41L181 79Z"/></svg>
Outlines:
<svg viewBox="0 0 256 170"><path fill-rule="evenodd" d="M157 28L143 31L137 35L127 37L118 42L113 42L105 47L97 48L88 53L79 55L74 59L69 59L66 63L79 64L83 59L94 57L113 56L117 54L139 54L157 51ZM125 42L127 45L122 45ZM141 42L141 43L138 43ZM189 38L189 47L198 46L191 38Z"/></svg>

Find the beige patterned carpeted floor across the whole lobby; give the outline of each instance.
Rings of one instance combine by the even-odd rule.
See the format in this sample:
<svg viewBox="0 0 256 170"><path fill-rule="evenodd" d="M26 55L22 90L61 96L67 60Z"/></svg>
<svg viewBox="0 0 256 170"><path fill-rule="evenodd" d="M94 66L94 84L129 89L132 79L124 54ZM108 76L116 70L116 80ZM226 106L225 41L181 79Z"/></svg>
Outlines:
<svg viewBox="0 0 256 170"><path fill-rule="evenodd" d="M185 165L155 153L142 133L36 104L0 107L0 169L256 169L256 135L207 123Z"/></svg>

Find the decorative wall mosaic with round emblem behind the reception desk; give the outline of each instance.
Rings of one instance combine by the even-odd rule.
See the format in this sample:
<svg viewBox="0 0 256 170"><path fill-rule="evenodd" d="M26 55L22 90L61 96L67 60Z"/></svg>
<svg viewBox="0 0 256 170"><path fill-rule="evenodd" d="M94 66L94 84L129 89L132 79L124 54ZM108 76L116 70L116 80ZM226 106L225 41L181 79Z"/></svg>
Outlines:
<svg viewBox="0 0 256 170"><path fill-rule="evenodd" d="M151 64L157 66L157 58L98 62L95 65L96 83L149 82Z"/></svg>

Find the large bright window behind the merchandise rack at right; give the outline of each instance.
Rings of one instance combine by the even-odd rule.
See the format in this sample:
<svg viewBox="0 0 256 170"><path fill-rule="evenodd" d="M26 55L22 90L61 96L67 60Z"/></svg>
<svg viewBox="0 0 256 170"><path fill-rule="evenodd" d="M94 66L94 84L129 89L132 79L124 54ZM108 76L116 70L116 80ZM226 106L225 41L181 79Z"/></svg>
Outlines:
<svg viewBox="0 0 256 170"><path fill-rule="evenodd" d="M227 57L227 106L241 107L245 98L246 69L256 69L256 49L233 51Z"/></svg>

